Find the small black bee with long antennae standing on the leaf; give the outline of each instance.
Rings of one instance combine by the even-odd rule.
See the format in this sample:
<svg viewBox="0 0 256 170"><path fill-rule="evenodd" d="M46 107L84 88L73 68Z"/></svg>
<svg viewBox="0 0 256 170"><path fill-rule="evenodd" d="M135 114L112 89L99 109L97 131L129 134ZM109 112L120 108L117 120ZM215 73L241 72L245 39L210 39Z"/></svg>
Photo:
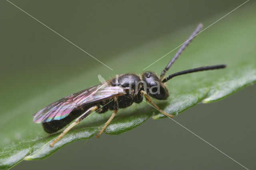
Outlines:
<svg viewBox="0 0 256 170"><path fill-rule="evenodd" d="M173 118L173 115L162 111L150 99L150 97L158 100L165 100L168 98L169 92L164 84L166 81L178 75L194 73L197 71L222 69L226 67L226 65L199 67L180 71L164 77L164 74L201 29L202 24L199 24L196 30L180 47L178 52L162 71L160 77L156 73L152 73L150 71L143 73L141 77L131 73L118 75L116 78L110 79L104 83L101 83L100 85L74 93L46 106L44 109L35 114L33 121L35 123L42 123L42 127L46 132L54 133L77 118L74 123L66 128L60 134L60 136L58 136L58 138L56 138L50 144L50 146L53 146L54 143L58 142L58 140L64 136L64 134L66 134L72 127L80 123L93 111L96 111L97 113L105 113L108 110L113 110L114 112L112 116L108 119L104 127L102 127L99 134L96 136L99 138L100 134L102 134L102 132L117 114L118 108L129 107L132 105L132 103L141 103L143 96L162 114Z"/></svg>

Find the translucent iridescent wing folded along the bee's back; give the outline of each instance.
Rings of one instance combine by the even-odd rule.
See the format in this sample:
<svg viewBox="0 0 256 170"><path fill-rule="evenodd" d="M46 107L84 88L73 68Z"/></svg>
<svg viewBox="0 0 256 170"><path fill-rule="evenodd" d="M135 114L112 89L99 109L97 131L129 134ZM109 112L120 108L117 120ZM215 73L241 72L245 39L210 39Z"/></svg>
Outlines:
<svg viewBox="0 0 256 170"><path fill-rule="evenodd" d="M64 97L46 106L34 115L33 121L35 123L44 123L52 120L60 120L82 106L124 94L126 93L122 87L108 86L108 83L105 82Z"/></svg>

